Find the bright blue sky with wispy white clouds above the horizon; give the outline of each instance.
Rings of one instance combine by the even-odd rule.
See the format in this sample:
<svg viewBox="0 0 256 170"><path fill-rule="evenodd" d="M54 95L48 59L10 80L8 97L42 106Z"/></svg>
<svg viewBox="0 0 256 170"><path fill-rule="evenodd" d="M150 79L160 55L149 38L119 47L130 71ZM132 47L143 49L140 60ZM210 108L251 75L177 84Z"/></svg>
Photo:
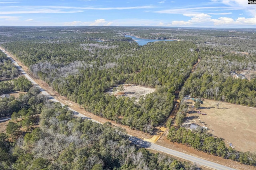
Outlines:
<svg viewBox="0 0 256 170"><path fill-rule="evenodd" d="M256 28L248 0L0 0L0 26Z"/></svg>

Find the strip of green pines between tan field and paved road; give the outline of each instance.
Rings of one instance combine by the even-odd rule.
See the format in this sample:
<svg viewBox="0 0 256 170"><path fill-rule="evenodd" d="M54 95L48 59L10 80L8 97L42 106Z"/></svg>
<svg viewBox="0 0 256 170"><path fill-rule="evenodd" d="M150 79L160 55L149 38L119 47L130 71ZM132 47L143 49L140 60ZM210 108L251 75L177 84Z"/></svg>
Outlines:
<svg viewBox="0 0 256 170"><path fill-rule="evenodd" d="M256 154L252 152L239 152L234 148L227 148L221 138L216 138L207 133L204 128L198 127L196 130L180 127L171 127L168 133L171 142L177 142L190 146L197 150L202 150L208 154L231 159L242 164L256 166Z"/></svg>

